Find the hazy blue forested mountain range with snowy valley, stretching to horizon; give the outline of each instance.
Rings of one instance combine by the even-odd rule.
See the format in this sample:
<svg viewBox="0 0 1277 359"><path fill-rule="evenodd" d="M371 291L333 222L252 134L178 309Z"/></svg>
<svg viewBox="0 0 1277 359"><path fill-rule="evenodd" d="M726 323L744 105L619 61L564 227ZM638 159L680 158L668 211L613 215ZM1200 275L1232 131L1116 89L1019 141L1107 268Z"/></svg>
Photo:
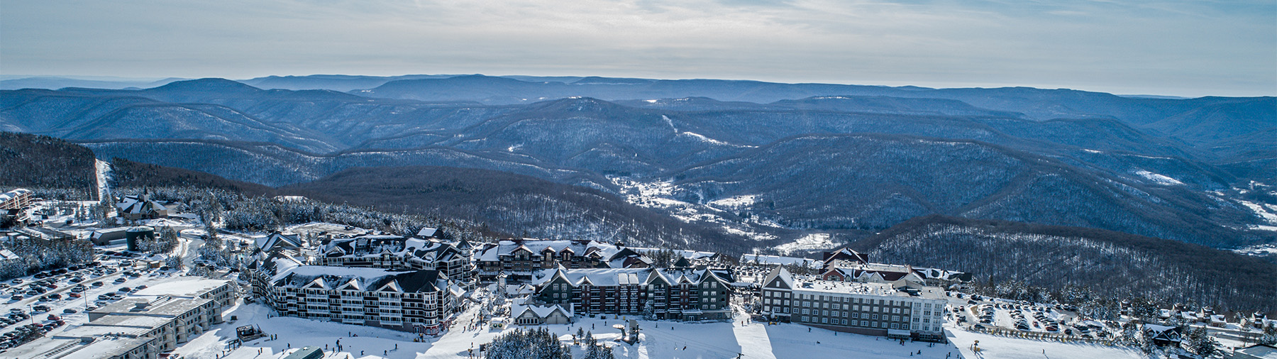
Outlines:
<svg viewBox="0 0 1277 359"><path fill-rule="evenodd" d="M1216 248L1277 240L1273 97L317 75L3 91L0 129L268 187L372 190L382 171L455 171L467 175L451 181L475 185L494 175L471 170L502 171L630 206L608 221L656 213L733 252L812 233L853 241L926 215ZM404 166L435 167L360 169ZM495 206L485 201L472 199Z"/></svg>

